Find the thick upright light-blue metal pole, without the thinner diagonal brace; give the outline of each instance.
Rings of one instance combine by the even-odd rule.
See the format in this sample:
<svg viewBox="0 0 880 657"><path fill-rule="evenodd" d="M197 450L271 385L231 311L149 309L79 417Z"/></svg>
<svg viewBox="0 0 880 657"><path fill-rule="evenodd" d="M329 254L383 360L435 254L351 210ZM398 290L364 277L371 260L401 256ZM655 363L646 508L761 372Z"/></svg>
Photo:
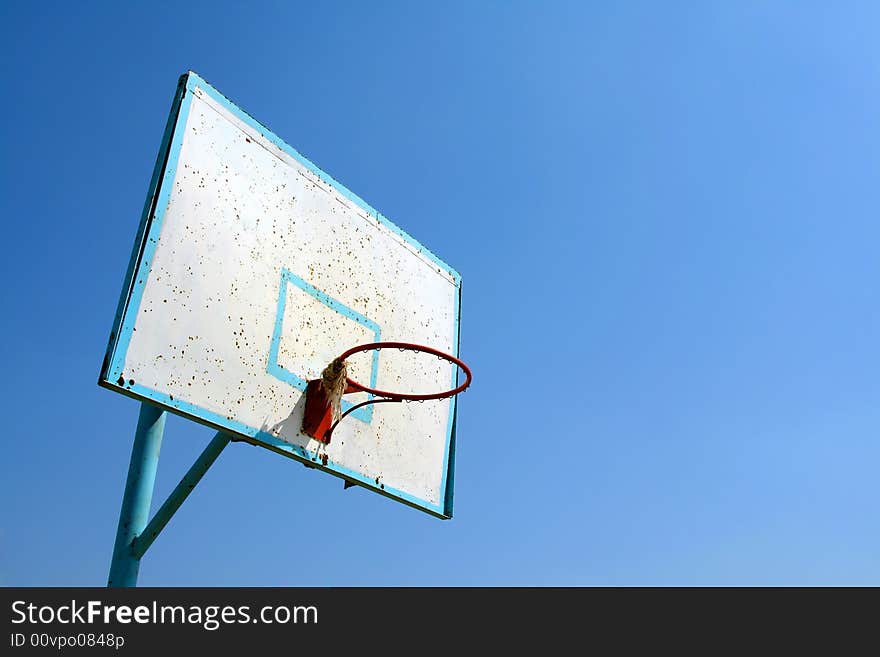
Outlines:
<svg viewBox="0 0 880 657"><path fill-rule="evenodd" d="M165 416L165 411L141 402L107 586L137 586L140 558L134 556L131 543L143 531L150 517L153 484L156 481L159 450L162 448L162 435L165 432Z"/></svg>

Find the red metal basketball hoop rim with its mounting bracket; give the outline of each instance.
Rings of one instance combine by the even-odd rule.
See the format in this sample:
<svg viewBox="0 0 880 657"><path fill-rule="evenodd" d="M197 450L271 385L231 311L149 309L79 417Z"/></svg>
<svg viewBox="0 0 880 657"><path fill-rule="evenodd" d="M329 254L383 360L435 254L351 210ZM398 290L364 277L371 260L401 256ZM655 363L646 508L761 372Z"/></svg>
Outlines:
<svg viewBox="0 0 880 657"><path fill-rule="evenodd" d="M341 392L340 396L355 392L366 392L374 395L376 399L368 399L367 401L361 402L360 404L355 404L347 411L339 415L339 417L336 418L334 421L333 407L338 407L339 400L338 398L336 400L331 399L330 395L328 395L327 393L324 381L322 379L313 379L312 381L309 381L308 385L306 386L306 408L305 413L303 414L302 424L303 433L311 436L319 442L329 444L330 438L333 435L333 430L336 429L336 426L347 415L353 413L363 406L367 406L369 404L382 404L387 402L424 402L436 399L446 399L447 397L452 397L453 395L464 392L465 389L467 389L467 387L471 384L471 380L473 379L470 368L461 359L456 358L452 354L447 354L446 352L440 351L439 349L434 349L433 347L426 347L419 344L411 344L409 342L370 342L367 344L361 344L356 347L352 347L348 351L345 351L341 356L339 356L339 358L335 359L333 363L331 363L331 365L344 366L345 361L348 357L353 356L357 353L361 353L363 351L373 351L374 349L399 349L401 351L419 351L437 356L437 358L440 358L441 360L449 361L450 363L458 367L462 372L464 372L465 381L461 385L455 388L451 388L450 390L443 390L441 392L433 392L428 394L416 394L378 390L376 388L365 386L362 383L358 383L350 377L346 377L345 389Z"/></svg>

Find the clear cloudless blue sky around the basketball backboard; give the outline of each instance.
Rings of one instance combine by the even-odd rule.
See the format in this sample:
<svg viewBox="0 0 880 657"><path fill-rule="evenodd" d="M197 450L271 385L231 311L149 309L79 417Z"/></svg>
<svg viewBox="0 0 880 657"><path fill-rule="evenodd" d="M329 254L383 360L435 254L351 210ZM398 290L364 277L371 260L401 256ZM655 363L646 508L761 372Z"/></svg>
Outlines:
<svg viewBox="0 0 880 657"><path fill-rule="evenodd" d="M0 11L0 584L106 582L96 380L192 69L462 273L476 378L452 521L232 445L141 584L880 585L876 3Z"/></svg>

